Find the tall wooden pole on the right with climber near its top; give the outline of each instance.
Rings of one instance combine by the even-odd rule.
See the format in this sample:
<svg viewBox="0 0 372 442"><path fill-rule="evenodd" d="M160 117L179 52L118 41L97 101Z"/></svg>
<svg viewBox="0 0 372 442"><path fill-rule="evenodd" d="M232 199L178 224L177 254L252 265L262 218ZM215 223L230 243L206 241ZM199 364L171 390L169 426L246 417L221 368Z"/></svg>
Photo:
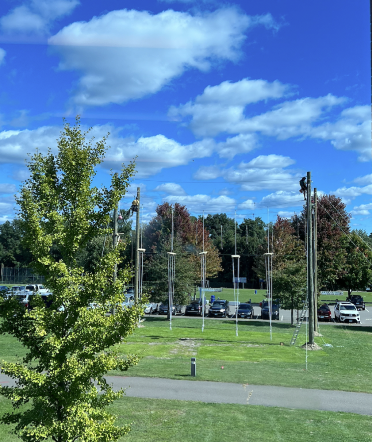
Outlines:
<svg viewBox="0 0 372 442"><path fill-rule="evenodd" d="M313 222L311 209L311 172L307 172L307 300L309 305L309 342L314 344Z"/></svg>

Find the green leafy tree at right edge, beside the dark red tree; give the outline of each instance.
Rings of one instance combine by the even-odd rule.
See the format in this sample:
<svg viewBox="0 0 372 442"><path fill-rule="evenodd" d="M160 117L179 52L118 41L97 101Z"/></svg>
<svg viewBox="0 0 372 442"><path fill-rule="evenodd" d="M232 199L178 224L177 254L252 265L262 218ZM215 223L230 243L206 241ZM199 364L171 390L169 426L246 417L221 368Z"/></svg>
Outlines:
<svg viewBox="0 0 372 442"><path fill-rule="evenodd" d="M346 241L345 267L337 284L350 296L353 290L365 290L372 283L372 250L355 231Z"/></svg>

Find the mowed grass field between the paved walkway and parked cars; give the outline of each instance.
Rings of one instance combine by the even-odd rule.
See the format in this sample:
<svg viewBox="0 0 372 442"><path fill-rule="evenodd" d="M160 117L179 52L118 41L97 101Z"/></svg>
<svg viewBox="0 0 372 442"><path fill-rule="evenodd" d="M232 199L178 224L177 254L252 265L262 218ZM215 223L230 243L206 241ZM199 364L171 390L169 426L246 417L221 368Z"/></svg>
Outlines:
<svg viewBox="0 0 372 442"><path fill-rule="evenodd" d="M196 318L173 317L171 331L164 316L146 317L142 325L120 345L123 357L137 354L139 364L110 374L372 392L369 327L320 325L322 350L306 355L306 324L294 346L289 324L273 323L272 340L264 321L239 321L238 336L231 320L207 318L204 332ZM13 337L1 337L0 359L16 361L24 353ZM196 378L190 377L191 357Z"/></svg>

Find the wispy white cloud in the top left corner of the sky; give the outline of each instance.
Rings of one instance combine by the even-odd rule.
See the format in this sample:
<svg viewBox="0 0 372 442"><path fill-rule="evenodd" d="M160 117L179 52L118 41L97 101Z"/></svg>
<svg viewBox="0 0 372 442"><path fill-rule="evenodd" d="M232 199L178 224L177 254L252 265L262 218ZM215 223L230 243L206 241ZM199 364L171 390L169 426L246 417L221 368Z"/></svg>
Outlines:
<svg viewBox="0 0 372 442"><path fill-rule="evenodd" d="M0 27L8 33L48 32L53 21L70 14L78 0L30 0L0 18Z"/></svg>

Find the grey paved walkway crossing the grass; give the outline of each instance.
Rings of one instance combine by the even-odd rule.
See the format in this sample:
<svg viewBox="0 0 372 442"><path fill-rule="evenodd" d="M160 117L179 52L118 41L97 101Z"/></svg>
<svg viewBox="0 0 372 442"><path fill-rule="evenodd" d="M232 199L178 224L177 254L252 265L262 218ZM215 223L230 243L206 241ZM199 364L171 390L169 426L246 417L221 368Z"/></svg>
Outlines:
<svg viewBox="0 0 372 442"><path fill-rule="evenodd" d="M126 395L133 397L372 415L372 394L369 393L163 378L107 376L106 379L115 389L126 388ZM0 374L0 385L12 385L12 381Z"/></svg>

